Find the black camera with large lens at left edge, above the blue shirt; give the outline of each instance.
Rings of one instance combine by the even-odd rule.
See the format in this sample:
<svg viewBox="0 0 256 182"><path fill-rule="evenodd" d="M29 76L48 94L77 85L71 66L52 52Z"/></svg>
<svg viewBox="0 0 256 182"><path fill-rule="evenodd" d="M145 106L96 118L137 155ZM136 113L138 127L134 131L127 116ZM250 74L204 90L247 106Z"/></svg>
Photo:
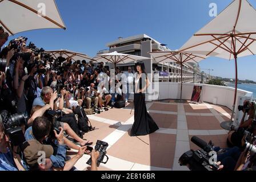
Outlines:
<svg viewBox="0 0 256 182"><path fill-rule="evenodd" d="M23 114L10 115L6 110L0 113L0 124L2 123L13 146L21 146L26 141L21 127L26 125L26 119Z"/></svg>

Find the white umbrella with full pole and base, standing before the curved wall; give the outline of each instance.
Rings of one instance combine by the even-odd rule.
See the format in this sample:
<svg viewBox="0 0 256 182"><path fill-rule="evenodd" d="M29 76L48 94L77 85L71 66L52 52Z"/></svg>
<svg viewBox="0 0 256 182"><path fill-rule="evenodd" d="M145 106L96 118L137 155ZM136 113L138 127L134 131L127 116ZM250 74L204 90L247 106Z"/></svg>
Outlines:
<svg viewBox="0 0 256 182"><path fill-rule="evenodd" d="M203 55L195 55L189 52L179 52L179 51L157 51L157 52L149 52L151 56L154 57L154 60L157 63L167 63L171 61L175 61L181 65L181 97L177 102L185 102L182 101L182 85L183 85L183 64L184 63L196 63L199 61L206 59L206 56Z"/></svg>

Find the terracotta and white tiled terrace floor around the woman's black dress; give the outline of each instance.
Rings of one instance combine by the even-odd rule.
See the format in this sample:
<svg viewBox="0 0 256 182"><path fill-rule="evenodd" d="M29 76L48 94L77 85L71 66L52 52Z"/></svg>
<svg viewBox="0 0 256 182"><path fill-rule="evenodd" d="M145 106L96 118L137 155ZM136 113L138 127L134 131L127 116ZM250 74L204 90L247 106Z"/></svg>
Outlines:
<svg viewBox="0 0 256 182"><path fill-rule="evenodd" d="M190 149L198 149L190 142L197 136L214 146L226 147L227 131L220 123L230 118L231 110L212 104L177 104L173 100L148 102L147 109L159 130L142 137L130 137L134 122L133 103L124 109L110 109L101 114L89 115L97 130L85 134L84 138L109 143L109 161L101 164L102 171L187 171L178 164L179 157ZM89 155L83 155L75 167L87 170Z"/></svg>

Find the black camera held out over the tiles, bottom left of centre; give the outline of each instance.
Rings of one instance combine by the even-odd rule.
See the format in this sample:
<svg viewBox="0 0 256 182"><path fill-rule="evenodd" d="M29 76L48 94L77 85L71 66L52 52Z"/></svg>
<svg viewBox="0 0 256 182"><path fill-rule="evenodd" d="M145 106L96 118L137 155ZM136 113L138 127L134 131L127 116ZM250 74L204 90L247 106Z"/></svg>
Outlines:
<svg viewBox="0 0 256 182"><path fill-rule="evenodd" d="M97 140L96 146L95 146L95 150L99 151L99 157L97 160L97 166L99 167L99 164L103 163L106 164L107 161L109 160L109 157L106 155L107 154L107 147L109 146L109 144L107 142L103 142L101 140ZM103 162L104 158L107 158L106 162ZM87 161L86 164L91 165L91 158Z"/></svg>

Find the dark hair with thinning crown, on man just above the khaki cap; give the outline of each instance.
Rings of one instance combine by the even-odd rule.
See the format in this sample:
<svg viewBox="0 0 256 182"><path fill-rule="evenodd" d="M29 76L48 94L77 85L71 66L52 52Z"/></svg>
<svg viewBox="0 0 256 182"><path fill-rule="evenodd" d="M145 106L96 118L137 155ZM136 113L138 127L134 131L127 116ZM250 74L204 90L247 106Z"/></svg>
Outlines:
<svg viewBox="0 0 256 182"><path fill-rule="evenodd" d="M46 117L37 117L35 118L32 131L35 139L38 141L43 137L49 135L51 130L51 122Z"/></svg>

